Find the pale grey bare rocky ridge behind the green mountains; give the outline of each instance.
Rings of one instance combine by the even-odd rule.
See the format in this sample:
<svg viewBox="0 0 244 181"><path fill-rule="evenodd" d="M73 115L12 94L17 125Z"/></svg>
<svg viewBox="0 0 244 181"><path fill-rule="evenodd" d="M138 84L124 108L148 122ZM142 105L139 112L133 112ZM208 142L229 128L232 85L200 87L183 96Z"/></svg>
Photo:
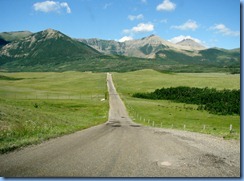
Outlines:
<svg viewBox="0 0 244 181"><path fill-rule="evenodd" d="M171 43L156 35L138 40L116 42L114 40L78 39L104 54L124 55L139 58L155 58L161 50L174 50L189 55L189 51L206 49L197 42L187 39L178 44ZM192 55L193 55L192 53ZM195 55L195 54L194 54Z"/></svg>

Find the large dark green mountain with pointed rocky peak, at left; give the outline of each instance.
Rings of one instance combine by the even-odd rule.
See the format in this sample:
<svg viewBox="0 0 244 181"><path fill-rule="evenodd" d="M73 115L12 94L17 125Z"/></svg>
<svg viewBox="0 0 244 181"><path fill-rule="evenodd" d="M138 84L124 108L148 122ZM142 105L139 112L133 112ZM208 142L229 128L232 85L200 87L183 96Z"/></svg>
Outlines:
<svg viewBox="0 0 244 181"><path fill-rule="evenodd" d="M0 49L0 58L5 62L22 59L30 64L34 62L42 64L49 61L59 63L70 57L97 55L100 53L93 48L53 29L33 33L18 41L8 43Z"/></svg>

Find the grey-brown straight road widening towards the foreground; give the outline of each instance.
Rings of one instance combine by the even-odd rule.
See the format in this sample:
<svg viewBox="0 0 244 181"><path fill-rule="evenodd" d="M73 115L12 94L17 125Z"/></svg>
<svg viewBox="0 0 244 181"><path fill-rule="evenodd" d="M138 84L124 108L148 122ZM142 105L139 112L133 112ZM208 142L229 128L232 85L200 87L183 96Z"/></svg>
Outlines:
<svg viewBox="0 0 244 181"><path fill-rule="evenodd" d="M0 176L240 177L240 141L138 125L107 84L105 124L0 155Z"/></svg>

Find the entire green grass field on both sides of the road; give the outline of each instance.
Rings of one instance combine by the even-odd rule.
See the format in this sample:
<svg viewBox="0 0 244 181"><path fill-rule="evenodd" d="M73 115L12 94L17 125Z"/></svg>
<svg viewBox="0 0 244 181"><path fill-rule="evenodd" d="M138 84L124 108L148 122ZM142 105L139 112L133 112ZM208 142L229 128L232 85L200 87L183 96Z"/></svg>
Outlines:
<svg viewBox="0 0 244 181"><path fill-rule="evenodd" d="M196 110L196 105L131 97L171 86L239 89L239 75L141 70L113 73L113 80L136 122L240 137L239 115L213 115ZM107 121L108 101L101 101L107 91L105 73L1 73L0 85L1 153Z"/></svg>

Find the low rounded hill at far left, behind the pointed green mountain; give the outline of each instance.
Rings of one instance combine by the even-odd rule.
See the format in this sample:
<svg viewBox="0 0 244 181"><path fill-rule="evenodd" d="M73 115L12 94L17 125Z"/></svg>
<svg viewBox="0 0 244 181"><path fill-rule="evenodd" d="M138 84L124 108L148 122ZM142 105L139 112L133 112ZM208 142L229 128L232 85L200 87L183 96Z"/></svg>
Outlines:
<svg viewBox="0 0 244 181"><path fill-rule="evenodd" d="M5 40L6 42L12 42L30 36L31 34L32 32L30 31L2 32L0 33L0 39Z"/></svg>

